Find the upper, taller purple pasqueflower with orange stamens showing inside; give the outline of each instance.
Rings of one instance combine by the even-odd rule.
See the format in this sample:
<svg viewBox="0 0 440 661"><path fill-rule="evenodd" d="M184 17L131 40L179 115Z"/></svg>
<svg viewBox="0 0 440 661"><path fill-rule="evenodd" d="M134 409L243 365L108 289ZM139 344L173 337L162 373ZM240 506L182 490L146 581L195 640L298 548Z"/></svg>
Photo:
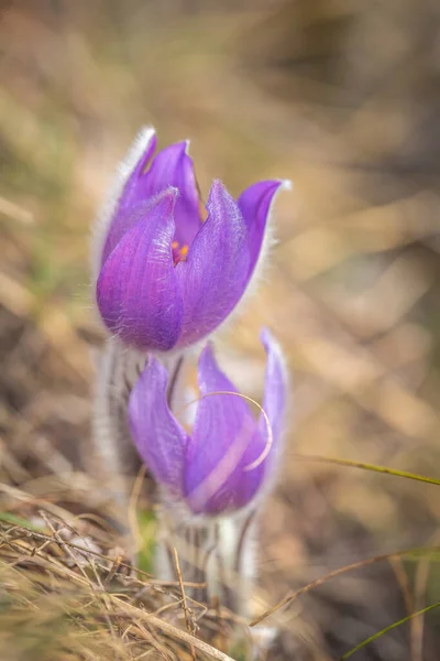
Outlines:
<svg viewBox="0 0 440 661"><path fill-rule="evenodd" d="M216 181L204 209L188 144L153 158L155 147L154 130L144 130L102 215L96 296L107 328L123 343L167 351L209 335L240 302L284 183L260 182L235 202Z"/></svg>

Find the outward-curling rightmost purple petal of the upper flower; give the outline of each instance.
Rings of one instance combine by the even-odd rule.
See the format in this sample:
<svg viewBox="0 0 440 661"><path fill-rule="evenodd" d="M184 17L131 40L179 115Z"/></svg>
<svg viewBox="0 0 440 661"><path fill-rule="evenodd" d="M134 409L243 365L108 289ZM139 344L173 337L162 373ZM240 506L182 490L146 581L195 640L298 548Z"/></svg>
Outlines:
<svg viewBox="0 0 440 661"><path fill-rule="evenodd" d="M263 247L272 202L277 191L285 185L286 182L280 181L258 182L243 191L237 201L249 232L248 240L251 253L249 277L254 271Z"/></svg>

